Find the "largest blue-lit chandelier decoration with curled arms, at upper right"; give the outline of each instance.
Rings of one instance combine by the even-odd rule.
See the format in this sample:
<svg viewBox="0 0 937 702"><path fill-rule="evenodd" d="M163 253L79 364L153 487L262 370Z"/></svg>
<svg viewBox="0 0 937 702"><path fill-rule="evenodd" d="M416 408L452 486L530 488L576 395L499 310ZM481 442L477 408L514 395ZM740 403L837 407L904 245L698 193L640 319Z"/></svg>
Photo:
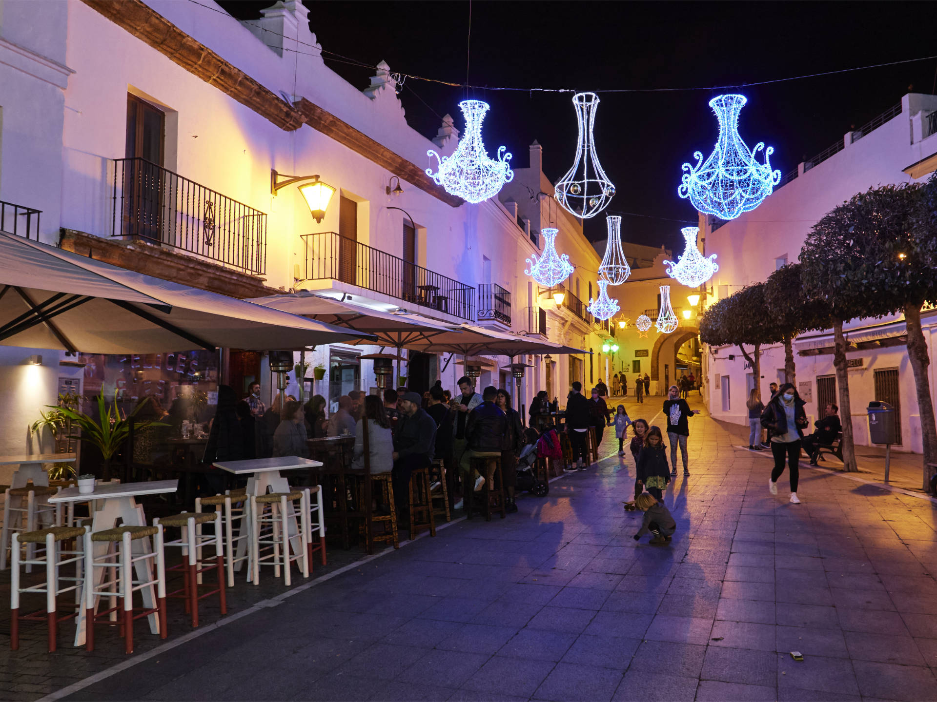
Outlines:
<svg viewBox="0 0 937 702"><path fill-rule="evenodd" d="M738 113L746 102L745 95L719 95L709 100L709 107L719 120L719 140L706 163L703 154L695 152L696 166L683 164L687 172L677 188L677 195L689 197L699 212L723 220L754 210L781 182L781 171L771 170L774 147L767 147L765 163L760 164L755 154L765 148L765 142L759 141L749 151L738 136Z"/></svg>

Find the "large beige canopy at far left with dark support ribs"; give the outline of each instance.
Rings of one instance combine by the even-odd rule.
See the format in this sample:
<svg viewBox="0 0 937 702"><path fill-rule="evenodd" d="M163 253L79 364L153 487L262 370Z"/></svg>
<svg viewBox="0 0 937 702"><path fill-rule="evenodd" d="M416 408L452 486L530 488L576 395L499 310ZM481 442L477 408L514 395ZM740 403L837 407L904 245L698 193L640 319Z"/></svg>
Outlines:
<svg viewBox="0 0 937 702"><path fill-rule="evenodd" d="M0 344L97 354L358 339L328 324L0 232Z"/></svg>

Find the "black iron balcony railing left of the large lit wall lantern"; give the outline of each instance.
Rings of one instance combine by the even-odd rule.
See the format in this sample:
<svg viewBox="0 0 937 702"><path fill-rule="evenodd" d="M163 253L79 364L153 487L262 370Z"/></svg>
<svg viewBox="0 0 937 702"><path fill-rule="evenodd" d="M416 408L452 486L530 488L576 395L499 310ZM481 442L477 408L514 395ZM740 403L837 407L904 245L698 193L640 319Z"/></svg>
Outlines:
<svg viewBox="0 0 937 702"><path fill-rule="evenodd" d="M142 158L114 161L111 236L266 272L266 214Z"/></svg>

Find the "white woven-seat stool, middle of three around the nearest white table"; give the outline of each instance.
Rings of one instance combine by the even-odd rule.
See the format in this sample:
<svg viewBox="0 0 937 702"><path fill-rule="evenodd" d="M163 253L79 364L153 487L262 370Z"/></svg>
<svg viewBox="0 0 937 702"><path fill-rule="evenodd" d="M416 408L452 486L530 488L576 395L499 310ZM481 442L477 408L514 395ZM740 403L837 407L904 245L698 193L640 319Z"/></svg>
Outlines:
<svg viewBox="0 0 937 702"><path fill-rule="evenodd" d="M149 547L149 539L153 537L153 548ZM131 544L133 541L145 539L143 552L133 554ZM110 548L107 553L95 556L95 543L110 543L116 548ZM149 574L146 579L135 580L133 572L135 565L145 563L145 570ZM156 563L156 575L153 573L153 564ZM105 578L95 586L95 568L112 568L112 578ZM122 612L121 636L124 636L124 651L133 652L133 621L156 614L159 618L159 637L166 638L166 561L163 553L162 526L119 526L106 529L103 532L85 532L84 534L84 607L85 607L85 636L84 645L87 651L95 650L95 623L104 621L103 618L111 612ZM95 597L113 597L112 586L116 587L118 604L95 614ZM107 589L105 589L107 588ZM154 598L156 607L138 608L134 614L133 593L150 588L156 590ZM110 617L109 622L110 623Z"/></svg>

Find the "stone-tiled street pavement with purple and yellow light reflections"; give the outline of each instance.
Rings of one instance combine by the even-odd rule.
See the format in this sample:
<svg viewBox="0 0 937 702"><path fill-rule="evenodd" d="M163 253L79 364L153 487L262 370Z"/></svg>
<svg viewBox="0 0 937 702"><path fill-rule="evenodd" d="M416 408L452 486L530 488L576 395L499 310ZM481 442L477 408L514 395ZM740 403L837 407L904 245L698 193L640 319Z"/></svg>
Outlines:
<svg viewBox="0 0 937 702"><path fill-rule="evenodd" d="M691 431L668 547L632 540L632 459L606 431L598 468L508 519L454 523L67 699L937 699L935 504L805 467L790 505L735 428L704 412Z"/></svg>

